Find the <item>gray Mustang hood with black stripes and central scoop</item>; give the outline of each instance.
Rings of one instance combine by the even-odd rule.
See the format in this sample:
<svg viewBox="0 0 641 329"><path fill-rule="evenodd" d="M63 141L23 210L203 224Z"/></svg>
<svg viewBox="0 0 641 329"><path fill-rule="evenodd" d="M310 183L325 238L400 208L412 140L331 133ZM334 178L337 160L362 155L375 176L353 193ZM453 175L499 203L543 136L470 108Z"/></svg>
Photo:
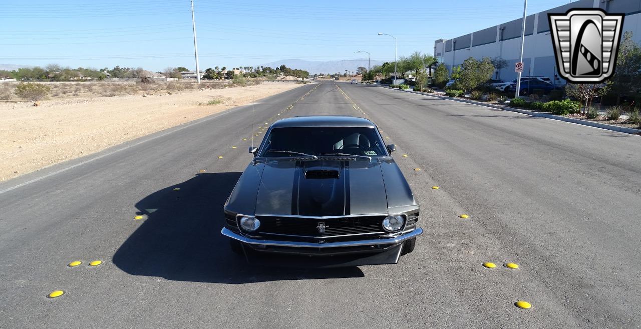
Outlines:
<svg viewBox="0 0 641 329"><path fill-rule="evenodd" d="M331 177L328 177L331 176ZM417 207L392 158L254 160L225 209L237 214L341 216Z"/></svg>

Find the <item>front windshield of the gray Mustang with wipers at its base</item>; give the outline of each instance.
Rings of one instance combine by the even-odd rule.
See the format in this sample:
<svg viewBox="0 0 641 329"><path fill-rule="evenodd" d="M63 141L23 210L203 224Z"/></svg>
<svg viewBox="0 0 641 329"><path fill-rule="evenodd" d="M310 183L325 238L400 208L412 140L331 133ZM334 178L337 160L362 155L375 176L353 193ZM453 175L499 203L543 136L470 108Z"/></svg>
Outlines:
<svg viewBox="0 0 641 329"><path fill-rule="evenodd" d="M288 152L284 152L288 151ZM375 128L295 127L274 128L265 137L260 156L328 156L337 153L386 156Z"/></svg>

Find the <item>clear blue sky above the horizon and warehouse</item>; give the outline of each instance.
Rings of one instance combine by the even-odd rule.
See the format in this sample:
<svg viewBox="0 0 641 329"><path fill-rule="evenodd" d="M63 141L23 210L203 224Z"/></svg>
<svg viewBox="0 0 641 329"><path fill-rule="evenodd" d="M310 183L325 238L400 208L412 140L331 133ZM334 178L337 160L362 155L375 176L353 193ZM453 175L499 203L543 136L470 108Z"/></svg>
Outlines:
<svg viewBox="0 0 641 329"><path fill-rule="evenodd" d="M568 3L529 0L528 14ZM281 59L394 60L517 19L520 0L194 0L201 69ZM188 0L3 0L0 63L194 69Z"/></svg>

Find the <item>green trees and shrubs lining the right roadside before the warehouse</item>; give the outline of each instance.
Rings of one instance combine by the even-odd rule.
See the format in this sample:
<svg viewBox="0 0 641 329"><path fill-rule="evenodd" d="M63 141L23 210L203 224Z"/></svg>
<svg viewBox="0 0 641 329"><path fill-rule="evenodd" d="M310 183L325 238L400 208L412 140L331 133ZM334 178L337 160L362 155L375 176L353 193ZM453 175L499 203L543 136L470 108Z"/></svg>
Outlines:
<svg viewBox="0 0 641 329"><path fill-rule="evenodd" d="M509 104L533 111L641 128L641 46L633 41L629 31L622 37L615 74L606 83L567 83L563 88L548 92L543 89L528 90L526 94L522 92L519 98L514 98L513 90L504 92L488 83L497 70L507 65L508 62L500 57L484 57L480 60L469 57L462 65L448 71L443 63L438 63L437 58L415 52L411 56L401 57L396 63L397 78L404 80L403 85L390 87L424 92L437 89L449 97ZM390 84L393 75L394 62L385 62L372 67L370 72L363 72L363 80Z"/></svg>

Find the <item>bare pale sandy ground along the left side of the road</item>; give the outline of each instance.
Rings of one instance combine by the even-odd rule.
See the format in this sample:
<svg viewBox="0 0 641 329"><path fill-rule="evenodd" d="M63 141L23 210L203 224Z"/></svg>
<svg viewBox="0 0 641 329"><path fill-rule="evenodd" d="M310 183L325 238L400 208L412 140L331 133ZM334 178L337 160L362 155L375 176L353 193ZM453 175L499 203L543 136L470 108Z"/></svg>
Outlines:
<svg viewBox="0 0 641 329"><path fill-rule="evenodd" d="M302 86L263 83L172 94L0 102L0 181ZM220 100L220 104L207 105Z"/></svg>

